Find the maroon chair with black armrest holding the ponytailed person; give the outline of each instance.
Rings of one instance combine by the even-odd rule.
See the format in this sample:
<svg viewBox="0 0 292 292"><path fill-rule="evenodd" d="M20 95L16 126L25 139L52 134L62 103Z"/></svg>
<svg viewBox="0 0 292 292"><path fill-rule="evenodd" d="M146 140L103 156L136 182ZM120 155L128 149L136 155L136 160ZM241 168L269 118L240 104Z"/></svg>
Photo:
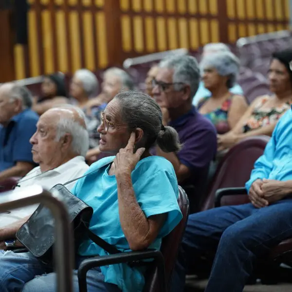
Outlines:
<svg viewBox="0 0 292 292"><path fill-rule="evenodd" d="M189 214L189 202L183 188L179 187L178 203L183 214L180 223L164 237L160 251L146 250L141 252L120 253L110 256L97 256L84 260L78 269L79 291L87 292L86 274L93 267L117 263L133 263L143 259L154 258L146 272L145 292L169 291L170 279L177 258L179 246ZM143 265L143 263L141 262Z"/></svg>

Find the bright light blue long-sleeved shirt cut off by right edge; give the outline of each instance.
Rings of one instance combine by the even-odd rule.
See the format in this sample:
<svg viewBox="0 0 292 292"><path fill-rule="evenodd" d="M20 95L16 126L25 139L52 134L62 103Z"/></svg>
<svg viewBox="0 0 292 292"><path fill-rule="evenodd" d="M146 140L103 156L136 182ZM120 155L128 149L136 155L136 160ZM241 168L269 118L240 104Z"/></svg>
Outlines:
<svg viewBox="0 0 292 292"><path fill-rule="evenodd" d="M257 179L277 181L292 180L292 111L280 118L273 135L268 142L264 154L259 157L251 173L250 180L245 184L249 191Z"/></svg>

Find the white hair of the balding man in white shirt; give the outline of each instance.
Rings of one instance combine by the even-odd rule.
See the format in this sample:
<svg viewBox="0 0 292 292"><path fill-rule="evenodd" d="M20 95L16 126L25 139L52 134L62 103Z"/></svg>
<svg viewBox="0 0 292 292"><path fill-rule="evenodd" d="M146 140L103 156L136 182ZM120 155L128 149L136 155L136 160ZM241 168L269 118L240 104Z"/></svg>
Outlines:
<svg viewBox="0 0 292 292"><path fill-rule="evenodd" d="M54 109L64 109L70 111L76 111L79 118L80 123L77 121L73 114L72 115L61 115L60 120L56 125L56 136L55 140L60 141L60 139L67 133L71 134L72 136L72 144L71 148L72 151L85 157L86 152L89 148L89 134L85 126L85 114L84 112L75 107L73 105L63 105L55 107Z"/></svg>

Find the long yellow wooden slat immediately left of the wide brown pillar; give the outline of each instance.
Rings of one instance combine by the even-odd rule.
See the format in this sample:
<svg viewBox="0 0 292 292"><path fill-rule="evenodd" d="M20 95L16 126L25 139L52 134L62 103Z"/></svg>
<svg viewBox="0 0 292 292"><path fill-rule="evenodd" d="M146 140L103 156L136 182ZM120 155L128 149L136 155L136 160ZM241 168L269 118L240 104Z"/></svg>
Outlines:
<svg viewBox="0 0 292 292"><path fill-rule="evenodd" d="M106 68L109 64L107 48L107 29L104 12L97 12L95 15L96 39L98 48L98 66Z"/></svg>

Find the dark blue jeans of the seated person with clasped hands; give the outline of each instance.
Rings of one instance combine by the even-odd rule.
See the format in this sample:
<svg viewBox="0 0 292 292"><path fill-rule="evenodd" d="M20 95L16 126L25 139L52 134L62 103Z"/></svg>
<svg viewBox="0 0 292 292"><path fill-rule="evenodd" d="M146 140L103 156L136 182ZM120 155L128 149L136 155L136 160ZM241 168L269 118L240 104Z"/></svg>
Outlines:
<svg viewBox="0 0 292 292"><path fill-rule="evenodd" d="M216 256L205 292L242 292L254 263L292 237L292 198L261 209L251 203L224 206L189 216L172 291L183 291L185 274L199 256Z"/></svg>

